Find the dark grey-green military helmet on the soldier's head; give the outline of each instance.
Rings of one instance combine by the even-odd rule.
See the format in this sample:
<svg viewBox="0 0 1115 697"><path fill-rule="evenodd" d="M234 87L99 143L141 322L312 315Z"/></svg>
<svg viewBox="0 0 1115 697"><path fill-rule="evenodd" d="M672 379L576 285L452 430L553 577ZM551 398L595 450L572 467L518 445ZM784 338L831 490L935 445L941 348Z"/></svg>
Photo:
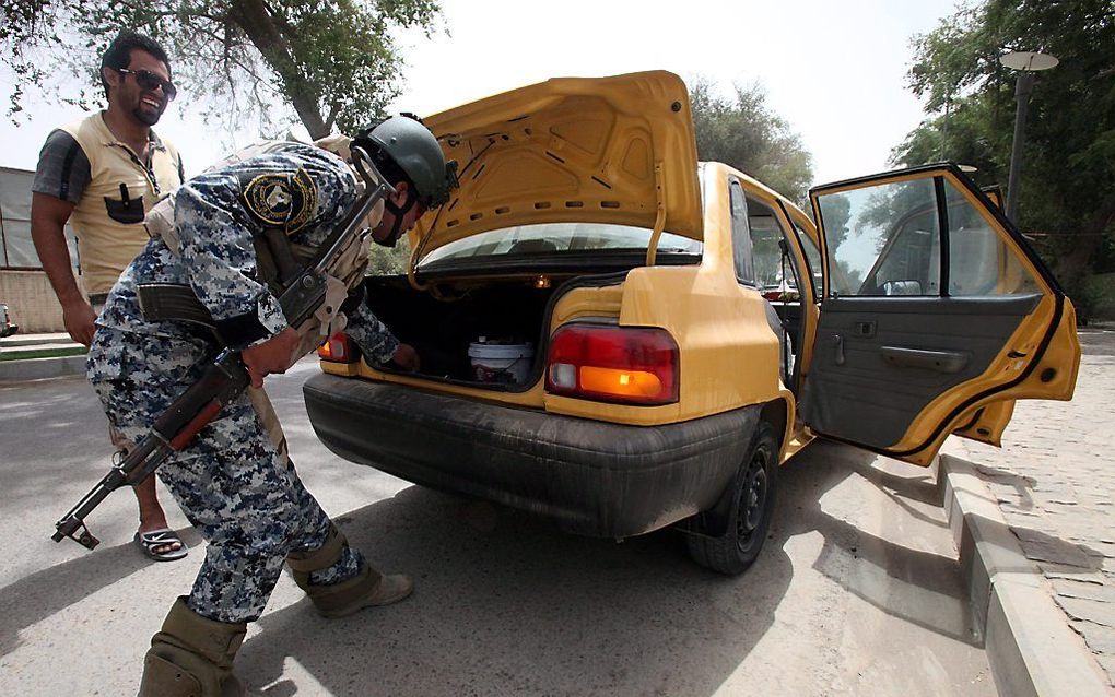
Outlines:
<svg viewBox="0 0 1115 697"><path fill-rule="evenodd" d="M457 163L446 163L437 138L415 116L404 114L380 122L361 130L356 143L359 145L361 141L370 141L403 170L424 207L444 204L449 200L449 191L457 186Z"/></svg>

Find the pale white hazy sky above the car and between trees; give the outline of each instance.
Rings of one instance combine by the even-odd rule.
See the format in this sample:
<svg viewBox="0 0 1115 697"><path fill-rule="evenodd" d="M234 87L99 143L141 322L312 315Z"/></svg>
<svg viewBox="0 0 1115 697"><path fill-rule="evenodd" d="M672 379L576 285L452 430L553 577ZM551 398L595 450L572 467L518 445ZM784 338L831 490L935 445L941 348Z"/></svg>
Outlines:
<svg viewBox="0 0 1115 697"><path fill-rule="evenodd" d="M954 0L443 0L445 29L401 37L407 60L395 110L419 115L560 76L667 69L729 89L759 80L770 107L813 153L816 183L886 167L890 149L922 118L905 87L910 37L933 29ZM172 57L172 60L174 57ZM181 61L181 59L180 59ZM7 86L4 86L7 87ZM2 90L4 94L9 89ZM167 108L156 130L183 152L187 174L225 149L188 109ZM0 124L0 165L35 168L57 125L78 110L26 103L32 120ZM185 109L183 108L185 107Z"/></svg>

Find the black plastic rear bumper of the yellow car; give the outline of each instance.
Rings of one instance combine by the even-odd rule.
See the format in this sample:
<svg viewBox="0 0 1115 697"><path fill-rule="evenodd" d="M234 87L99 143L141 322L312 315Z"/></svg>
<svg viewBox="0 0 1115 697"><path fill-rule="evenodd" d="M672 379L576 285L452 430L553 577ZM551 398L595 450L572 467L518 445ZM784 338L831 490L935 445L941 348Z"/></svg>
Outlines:
<svg viewBox="0 0 1115 697"><path fill-rule="evenodd" d="M712 507L759 415L746 407L626 426L327 374L303 391L318 437L346 459L602 538L650 532Z"/></svg>

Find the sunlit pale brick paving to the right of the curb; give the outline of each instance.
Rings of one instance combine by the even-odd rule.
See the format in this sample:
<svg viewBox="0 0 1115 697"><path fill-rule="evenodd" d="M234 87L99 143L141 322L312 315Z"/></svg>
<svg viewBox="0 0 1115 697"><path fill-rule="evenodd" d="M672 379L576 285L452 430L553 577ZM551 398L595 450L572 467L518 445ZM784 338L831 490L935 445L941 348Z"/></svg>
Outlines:
<svg viewBox="0 0 1115 697"><path fill-rule="evenodd" d="M978 463L1065 621L1115 686L1115 331L1082 330L1072 401L1019 401L1004 447L951 438Z"/></svg>

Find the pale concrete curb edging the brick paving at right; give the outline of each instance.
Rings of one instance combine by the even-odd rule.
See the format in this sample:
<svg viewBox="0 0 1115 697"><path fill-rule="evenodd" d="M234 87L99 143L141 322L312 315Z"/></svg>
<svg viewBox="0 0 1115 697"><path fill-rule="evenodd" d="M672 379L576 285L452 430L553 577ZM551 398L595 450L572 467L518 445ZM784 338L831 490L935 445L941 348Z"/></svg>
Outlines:
<svg viewBox="0 0 1115 697"><path fill-rule="evenodd" d="M941 455L937 481L999 694L1108 697L1098 662L1022 554L976 465Z"/></svg>

